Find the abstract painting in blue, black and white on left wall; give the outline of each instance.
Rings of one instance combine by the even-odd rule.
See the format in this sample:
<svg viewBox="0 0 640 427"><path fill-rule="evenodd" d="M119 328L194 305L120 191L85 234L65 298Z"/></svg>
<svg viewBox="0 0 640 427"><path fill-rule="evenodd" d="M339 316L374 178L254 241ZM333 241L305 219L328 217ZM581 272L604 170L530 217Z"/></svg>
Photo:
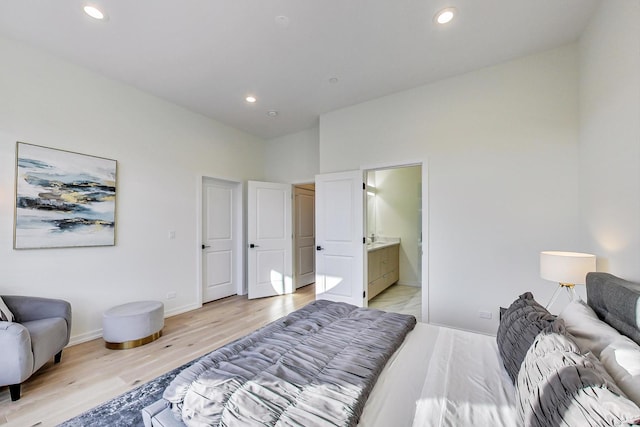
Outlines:
<svg viewBox="0 0 640 427"><path fill-rule="evenodd" d="M116 167L18 142L14 249L115 245Z"/></svg>

